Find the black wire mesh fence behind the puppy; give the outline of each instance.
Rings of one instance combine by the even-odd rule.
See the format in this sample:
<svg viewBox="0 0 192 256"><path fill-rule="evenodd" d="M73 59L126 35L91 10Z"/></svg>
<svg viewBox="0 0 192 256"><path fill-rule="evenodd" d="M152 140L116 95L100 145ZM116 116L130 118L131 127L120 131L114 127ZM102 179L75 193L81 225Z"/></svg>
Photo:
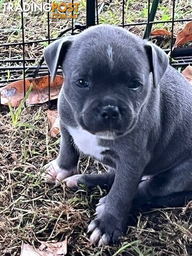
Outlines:
<svg viewBox="0 0 192 256"><path fill-rule="evenodd" d="M51 1L47 0L47 3ZM71 3L74 4L71 0ZM161 2L159 0L143 0L141 3L130 0L112 1L112 0L81 0L81 19L60 20L60 26L56 26L56 20L51 18L51 12L44 13L44 19L38 21L37 17L28 17L25 12L15 14L16 17L8 17L8 14L2 14L4 17L1 20L3 29L0 33L0 87L5 86L7 83L20 81L23 79L23 93L26 95L26 78L35 78L40 76L49 75L47 66L44 63L42 57L43 49L46 45L51 43L57 38L64 35L80 33L82 30L89 26L98 25L101 23L112 23L117 26L124 27L130 31L139 34L143 38L150 38L152 26L157 28L160 26L168 27L171 31L169 40L163 45L163 49L166 53L170 54L170 63L174 67L185 67L192 64L192 47L187 45L186 47L180 47L172 51L174 44L174 31L180 29L179 25L183 22L192 21L191 8L192 4L187 2L187 10L184 14L180 13L178 4L184 4L186 1L164 1L164 7L166 4L169 6L166 11L166 17L161 15ZM21 7L23 7L23 0L20 1ZM186 4L186 3L185 3ZM115 6L118 5L118 8ZM134 13L135 8L135 13ZM130 10L132 10L130 12ZM130 17L130 14L135 17ZM142 13L142 15L140 15ZM165 12L164 12L165 13ZM106 14L106 15L105 15ZM133 15L134 14L134 15ZM165 15L165 14L163 14ZM9 20L10 28L4 27ZM33 25L39 34L44 36L41 39L35 36L30 36L30 24L36 19L37 24ZM19 31L15 30L15 22L19 22L21 25ZM39 23L38 23L39 22ZM37 26L36 26L37 25ZM57 24L58 25L58 24ZM55 33L55 26L57 27L57 33ZM16 28L18 29L18 28ZM8 31L8 33L7 33ZM35 31L35 32L36 32ZM18 33L17 38L15 32ZM5 35L5 33L7 33ZM158 41L158 38L156 38ZM62 74L61 69L57 74ZM48 84L48 99L50 103L50 81ZM1 94L0 94L1 103Z"/></svg>

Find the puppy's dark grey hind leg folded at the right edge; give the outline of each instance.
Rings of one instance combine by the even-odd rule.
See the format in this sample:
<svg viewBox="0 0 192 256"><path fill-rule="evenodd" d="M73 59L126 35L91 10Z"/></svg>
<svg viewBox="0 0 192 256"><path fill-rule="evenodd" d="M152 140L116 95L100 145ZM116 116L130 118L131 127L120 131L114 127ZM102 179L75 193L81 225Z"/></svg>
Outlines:
<svg viewBox="0 0 192 256"><path fill-rule="evenodd" d="M182 206L192 199L192 159L141 181L132 206Z"/></svg>

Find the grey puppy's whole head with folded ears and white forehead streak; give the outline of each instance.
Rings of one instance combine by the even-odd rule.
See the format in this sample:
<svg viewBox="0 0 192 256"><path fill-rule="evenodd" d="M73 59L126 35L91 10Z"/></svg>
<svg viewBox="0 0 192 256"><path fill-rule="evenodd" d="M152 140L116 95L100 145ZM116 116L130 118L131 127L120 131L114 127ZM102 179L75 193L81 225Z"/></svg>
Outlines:
<svg viewBox="0 0 192 256"><path fill-rule="evenodd" d="M62 67L64 95L78 124L105 139L136 126L141 108L168 67L160 48L107 25L55 41L44 57L52 79Z"/></svg>

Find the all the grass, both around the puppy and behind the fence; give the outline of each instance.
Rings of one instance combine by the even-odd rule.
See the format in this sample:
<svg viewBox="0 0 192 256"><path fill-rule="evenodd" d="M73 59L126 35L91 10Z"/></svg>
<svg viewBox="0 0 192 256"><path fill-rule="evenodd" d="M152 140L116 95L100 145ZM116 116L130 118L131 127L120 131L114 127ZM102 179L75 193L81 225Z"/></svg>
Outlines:
<svg viewBox="0 0 192 256"><path fill-rule="evenodd" d="M37 0L40 3L42 0ZM7 0L0 0L0 8ZM15 4L19 3L14 1ZM26 1L29 2L29 1ZM81 0L79 22L86 20L86 1ZM104 3L103 0L98 1ZM144 22L147 20L147 1L125 1L125 21ZM192 4L176 1L176 18L190 18ZM122 17L122 0L105 0L99 22L118 24ZM170 1L162 1L156 20L171 17ZM46 39L46 14L24 15L26 41ZM0 44L22 41L20 13L3 14L0 10ZM51 37L56 37L70 21L51 21ZM176 23L174 34L183 26ZM153 29L165 28L170 31L170 23L155 25ZM130 31L143 35L145 26L128 27ZM170 38L154 37L154 41L164 48L170 46ZM41 58L46 42L27 45L26 65L36 65ZM22 58L22 47L2 47L0 59ZM15 63L4 63L16 66ZM18 64L17 64L18 65ZM21 62L20 62L21 65ZM0 73L1 74L1 73ZM22 72L8 70L0 79L20 77ZM27 99L27 98L26 98ZM42 167L59 152L60 137L49 137L48 106L36 105L18 109L4 107L0 113L0 255L18 256L22 241L36 247L40 241L63 241L68 238L68 255L74 256L190 256L192 255L192 223L189 203L183 208L143 209L129 217L128 231L121 238L119 246L102 249L91 246L86 228L94 218L95 204L105 195L97 188L87 191L81 188L77 193L65 188L48 185L40 180ZM103 172L103 166L93 159L81 157L80 173Z"/></svg>

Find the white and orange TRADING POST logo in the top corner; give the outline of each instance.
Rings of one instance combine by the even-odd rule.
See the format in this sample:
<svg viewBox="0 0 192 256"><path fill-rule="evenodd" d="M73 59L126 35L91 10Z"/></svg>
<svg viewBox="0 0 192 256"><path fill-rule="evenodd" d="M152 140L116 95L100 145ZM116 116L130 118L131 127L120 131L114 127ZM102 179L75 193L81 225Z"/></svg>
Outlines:
<svg viewBox="0 0 192 256"><path fill-rule="evenodd" d="M3 12L52 12L52 19L77 19L79 15L79 3L40 3L34 2L14 5L3 3Z"/></svg>

